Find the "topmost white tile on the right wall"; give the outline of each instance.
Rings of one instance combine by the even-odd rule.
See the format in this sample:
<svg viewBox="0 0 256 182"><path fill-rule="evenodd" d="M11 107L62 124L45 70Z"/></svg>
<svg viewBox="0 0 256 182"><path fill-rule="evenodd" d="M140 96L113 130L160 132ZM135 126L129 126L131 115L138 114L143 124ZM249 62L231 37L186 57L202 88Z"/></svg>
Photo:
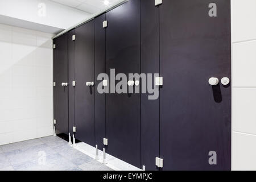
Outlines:
<svg viewBox="0 0 256 182"><path fill-rule="evenodd" d="M256 1L232 0L232 41L256 39Z"/></svg>

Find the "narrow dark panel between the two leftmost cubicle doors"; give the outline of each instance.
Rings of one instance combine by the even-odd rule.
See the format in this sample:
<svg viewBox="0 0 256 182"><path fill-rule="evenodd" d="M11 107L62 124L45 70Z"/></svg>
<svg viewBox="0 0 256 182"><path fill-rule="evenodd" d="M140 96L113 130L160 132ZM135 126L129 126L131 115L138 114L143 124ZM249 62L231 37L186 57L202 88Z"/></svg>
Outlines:
<svg viewBox="0 0 256 182"><path fill-rule="evenodd" d="M69 133L73 134L73 126L75 126L75 42L72 36L75 30L68 32L68 123Z"/></svg>

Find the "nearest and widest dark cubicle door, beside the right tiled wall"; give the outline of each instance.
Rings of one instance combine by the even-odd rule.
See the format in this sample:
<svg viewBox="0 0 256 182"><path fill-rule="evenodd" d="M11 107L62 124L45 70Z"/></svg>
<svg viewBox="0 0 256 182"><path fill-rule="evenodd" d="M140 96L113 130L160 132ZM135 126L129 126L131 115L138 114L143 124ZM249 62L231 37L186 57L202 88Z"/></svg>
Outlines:
<svg viewBox="0 0 256 182"><path fill-rule="evenodd" d="M209 16L216 3L217 16ZM160 154L164 170L230 170L230 1L160 5ZM209 158L217 154L217 164ZM210 152L210 153L209 153ZM210 154L210 156L209 156Z"/></svg>

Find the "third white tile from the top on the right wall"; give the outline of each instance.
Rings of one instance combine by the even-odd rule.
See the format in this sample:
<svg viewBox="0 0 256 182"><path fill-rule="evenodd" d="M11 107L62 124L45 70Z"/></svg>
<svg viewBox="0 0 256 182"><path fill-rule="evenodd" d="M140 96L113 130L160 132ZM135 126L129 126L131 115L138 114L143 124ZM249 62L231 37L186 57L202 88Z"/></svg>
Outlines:
<svg viewBox="0 0 256 182"><path fill-rule="evenodd" d="M233 88L233 131L256 134L256 88Z"/></svg>

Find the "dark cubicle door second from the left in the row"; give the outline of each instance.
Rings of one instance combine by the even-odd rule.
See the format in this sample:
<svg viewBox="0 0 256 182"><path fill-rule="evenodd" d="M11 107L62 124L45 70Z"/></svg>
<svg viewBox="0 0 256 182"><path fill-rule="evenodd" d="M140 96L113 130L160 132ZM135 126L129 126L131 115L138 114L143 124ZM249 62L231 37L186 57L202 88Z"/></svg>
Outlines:
<svg viewBox="0 0 256 182"><path fill-rule="evenodd" d="M95 146L94 135L94 20L75 28L76 138Z"/></svg>

